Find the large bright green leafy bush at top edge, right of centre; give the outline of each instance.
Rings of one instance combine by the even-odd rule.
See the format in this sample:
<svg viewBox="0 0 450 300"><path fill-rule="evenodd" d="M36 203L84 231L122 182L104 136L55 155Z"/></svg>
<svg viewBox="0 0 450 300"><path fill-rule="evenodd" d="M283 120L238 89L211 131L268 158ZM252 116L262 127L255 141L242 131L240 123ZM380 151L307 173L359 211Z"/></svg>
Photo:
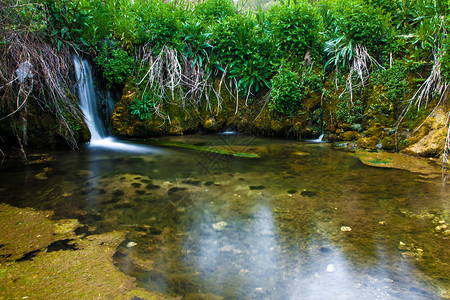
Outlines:
<svg viewBox="0 0 450 300"><path fill-rule="evenodd" d="M318 56L321 52L322 20L317 9L307 2L276 6L271 10L274 43L283 57L303 59L306 52Z"/></svg>

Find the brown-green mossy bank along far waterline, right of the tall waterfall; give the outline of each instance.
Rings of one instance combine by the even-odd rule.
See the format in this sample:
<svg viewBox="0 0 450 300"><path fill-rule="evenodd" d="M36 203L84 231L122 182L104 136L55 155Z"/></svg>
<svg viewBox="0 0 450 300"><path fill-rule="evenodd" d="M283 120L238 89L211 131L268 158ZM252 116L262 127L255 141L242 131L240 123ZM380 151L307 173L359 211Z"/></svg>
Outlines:
<svg viewBox="0 0 450 300"><path fill-rule="evenodd" d="M319 132L321 125L317 121L317 108L320 106L320 95L311 95L305 101L302 111L286 117L271 114L266 99L258 97L247 103L246 99L239 98L236 110L235 95L231 95L223 85L219 86L220 81L216 80L214 87L220 91L219 98L210 93L208 100L202 99L199 106L188 102L183 106L175 96L174 100L163 105L160 110L162 117L152 116L148 120L140 120L129 112L128 107L136 97L136 89L127 83L122 99L114 108L113 133L119 136L144 137L182 135L200 129L218 132L229 127L264 135L299 136L310 127Z"/></svg>

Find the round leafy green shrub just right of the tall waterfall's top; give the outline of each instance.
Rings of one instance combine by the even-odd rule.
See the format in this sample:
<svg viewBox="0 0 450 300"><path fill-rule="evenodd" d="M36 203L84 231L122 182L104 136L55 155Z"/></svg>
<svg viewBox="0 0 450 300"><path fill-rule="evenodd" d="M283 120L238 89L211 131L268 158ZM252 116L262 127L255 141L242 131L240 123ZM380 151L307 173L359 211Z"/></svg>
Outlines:
<svg viewBox="0 0 450 300"><path fill-rule="evenodd" d="M95 57L95 62L102 70L103 77L108 81L109 88L125 84L134 65L134 59L128 56L128 53L117 43L111 41L103 43Z"/></svg>

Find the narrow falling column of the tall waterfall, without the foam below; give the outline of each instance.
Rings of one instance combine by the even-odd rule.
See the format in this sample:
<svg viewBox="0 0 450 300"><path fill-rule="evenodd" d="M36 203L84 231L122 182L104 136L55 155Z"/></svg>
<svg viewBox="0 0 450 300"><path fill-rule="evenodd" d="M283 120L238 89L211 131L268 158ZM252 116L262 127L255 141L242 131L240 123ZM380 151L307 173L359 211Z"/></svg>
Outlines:
<svg viewBox="0 0 450 300"><path fill-rule="evenodd" d="M89 62L74 56L75 74L78 82L78 100L86 124L91 132L91 143L104 139L106 129L98 115L97 97L94 92L94 80Z"/></svg>

